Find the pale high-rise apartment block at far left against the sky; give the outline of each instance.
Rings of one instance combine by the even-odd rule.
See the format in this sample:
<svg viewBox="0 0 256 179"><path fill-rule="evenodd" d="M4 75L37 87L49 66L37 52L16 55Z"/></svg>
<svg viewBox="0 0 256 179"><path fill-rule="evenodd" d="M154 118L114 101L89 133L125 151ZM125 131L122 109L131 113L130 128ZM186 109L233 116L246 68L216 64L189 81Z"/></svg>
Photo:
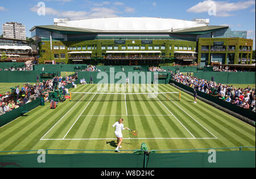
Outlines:
<svg viewBox="0 0 256 179"><path fill-rule="evenodd" d="M2 24L3 37L9 39L26 40L25 25L17 22Z"/></svg>

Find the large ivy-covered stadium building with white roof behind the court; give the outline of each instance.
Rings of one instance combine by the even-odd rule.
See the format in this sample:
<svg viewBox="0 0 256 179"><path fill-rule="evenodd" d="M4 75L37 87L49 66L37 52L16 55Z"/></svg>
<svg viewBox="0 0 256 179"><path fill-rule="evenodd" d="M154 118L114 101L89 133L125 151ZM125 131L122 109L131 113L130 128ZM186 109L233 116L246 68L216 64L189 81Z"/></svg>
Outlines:
<svg viewBox="0 0 256 179"><path fill-rule="evenodd" d="M246 31L162 18L54 19L31 30L40 63L104 65L251 64Z"/></svg>

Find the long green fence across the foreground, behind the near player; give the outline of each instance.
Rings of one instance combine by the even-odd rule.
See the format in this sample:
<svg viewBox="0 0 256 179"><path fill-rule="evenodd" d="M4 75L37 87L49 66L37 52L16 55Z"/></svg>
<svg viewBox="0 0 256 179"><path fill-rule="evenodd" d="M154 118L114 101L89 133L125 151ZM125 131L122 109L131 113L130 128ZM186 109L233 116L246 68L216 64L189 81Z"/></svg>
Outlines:
<svg viewBox="0 0 256 179"><path fill-rule="evenodd" d="M254 148L253 150L242 150ZM227 149L229 151L217 151ZM234 149L235 151L232 151ZM191 149L190 149L191 150ZM168 150L169 153L151 154L89 154L84 152L103 152L104 150L31 150L2 151L34 152L32 154L0 155L0 167L20 168L255 168L255 147L230 147L194 149L208 152L175 152L185 150ZM77 151L80 154L49 154L52 151ZM188 150L189 151L189 150ZM108 150L104 152L114 152ZM131 152L122 151L122 152ZM157 152L161 152L158 150ZM43 156L44 155L44 156Z"/></svg>

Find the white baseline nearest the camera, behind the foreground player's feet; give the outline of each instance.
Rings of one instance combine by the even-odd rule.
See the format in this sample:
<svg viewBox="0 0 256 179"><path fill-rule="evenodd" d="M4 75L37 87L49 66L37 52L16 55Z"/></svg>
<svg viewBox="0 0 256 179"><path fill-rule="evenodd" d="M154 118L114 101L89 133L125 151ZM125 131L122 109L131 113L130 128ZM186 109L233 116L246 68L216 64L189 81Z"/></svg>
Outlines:
<svg viewBox="0 0 256 179"><path fill-rule="evenodd" d="M115 140L117 138L95 138L95 139L40 139L40 140ZM216 138L123 138L126 140L147 140L147 139L216 139Z"/></svg>

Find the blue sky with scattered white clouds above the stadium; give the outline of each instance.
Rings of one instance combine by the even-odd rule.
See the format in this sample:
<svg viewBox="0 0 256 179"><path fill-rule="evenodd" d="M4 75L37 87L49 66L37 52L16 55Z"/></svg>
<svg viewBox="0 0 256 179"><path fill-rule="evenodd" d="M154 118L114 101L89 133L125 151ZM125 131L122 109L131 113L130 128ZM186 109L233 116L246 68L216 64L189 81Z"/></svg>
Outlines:
<svg viewBox="0 0 256 179"><path fill-rule="evenodd" d="M38 15L40 2L46 6L46 15ZM9 0L1 1L0 5L0 23L23 23L28 37L34 25L51 25L53 18L76 20L115 16L210 19L210 25L229 25L232 30L248 31L248 38L255 40L255 0Z"/></svg>

